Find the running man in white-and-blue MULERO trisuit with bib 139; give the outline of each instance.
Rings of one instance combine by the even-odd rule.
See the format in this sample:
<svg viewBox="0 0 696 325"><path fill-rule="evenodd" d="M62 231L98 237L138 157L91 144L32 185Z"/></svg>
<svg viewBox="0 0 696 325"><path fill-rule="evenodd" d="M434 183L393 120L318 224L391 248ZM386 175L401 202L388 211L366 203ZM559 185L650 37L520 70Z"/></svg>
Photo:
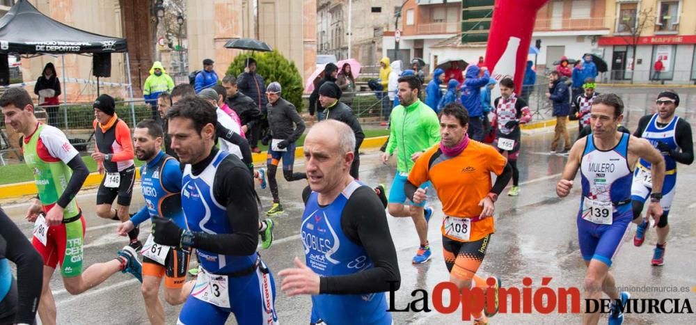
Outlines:
<svg viewBox="0 0 696 325"><path fill-rule="evenodd" d="M623 112L624 103L615 94L603 94L594 99L590 117L592 134L573 145L562 178L556 185L559 197L568 196L580 169L583 196L577 217L578 241L587 265L583 295L585 299L601 299L604 292L612 299L610 325L624 322L622 310L631 296L628 292L617 292L609 268L633 219L632 169L639 158L654 167L651 177L655 191L647 215L656 222L662 215L658 194L665 177L665 161L660 152L648 141L617 130L624 119ZM619 299L622 306L617 303ZM583 315L583 324L597 324L599 317L599 312L587 312Z"/></svg>

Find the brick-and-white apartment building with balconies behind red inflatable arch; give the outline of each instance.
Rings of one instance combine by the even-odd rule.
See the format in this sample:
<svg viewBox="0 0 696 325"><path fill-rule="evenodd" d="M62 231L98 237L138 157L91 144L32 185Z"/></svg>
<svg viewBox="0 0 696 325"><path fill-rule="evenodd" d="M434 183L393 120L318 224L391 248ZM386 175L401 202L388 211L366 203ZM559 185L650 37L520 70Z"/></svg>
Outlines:
<svg viewBox="0 0 696 325"><path fill-rule="evenodd" d="M537 13L532 45L541 41L541 49L530 60L538 68L551 67L562 56L580 59L591 52L601 54L598 39L608 35L606 8L608 0L551 0ZM421 54L425 61L436 63L443 58L461 58L471 63L486 54L494 0L409 0L404 5L413 8L417 28L402 33L402 49L411 57ZM454 6L456 5L456 6ZM457 8L458 6L458 8ZM443 11L444 10L444 11ZM444 12L444 18L443 18ZM404 23L409 15L404 16ZM425 26L420 26L425 24ZM436 26L436 27L433 27ZM458 26L456 31L452 29ZM404 35L406 35L404 37ZM408 42L409 39L422 40ZM391 47L390 47L391 46ZM393 48L393 40L385 39L385 47ZM431 64L430 71L434 70Z"/></svg>

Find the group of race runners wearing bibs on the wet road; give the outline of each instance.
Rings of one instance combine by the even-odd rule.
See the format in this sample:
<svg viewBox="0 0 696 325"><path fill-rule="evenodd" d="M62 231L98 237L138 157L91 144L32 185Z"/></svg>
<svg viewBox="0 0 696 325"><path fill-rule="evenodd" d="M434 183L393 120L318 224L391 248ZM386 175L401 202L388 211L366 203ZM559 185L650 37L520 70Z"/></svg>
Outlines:
<svg viewBox="0 0 696 325"><path fill-rule="evenodd" d="M55 324L49 280L58 264L70 294L95 287L118 271L132 274L142 282L152 324L165 322L158 296L161 278L165 278L166 301L184 304L179 324L224 324L230 313L239 324L278 322L274 277L257 253L259 235L267 242L264 247L269 246L273 227L270 220L259 221L254 179L261 175L253 170L248 143L221 109L221 97L203 92L196 96L189 88L180 85L168 97L159 98L164 126L143 120L133 136L116 115L113 98L102 95L95 101L97 145L92 157L100 172L106 173L97 190L97 215L120 221L117 232L129 236L129 243L113 260L84 271L85 220L75 196L88 169L63 132L36 120L25 90L10 88L0 97L6 125L24 134L24 159L39 189L27 219L35 223L32 245L42 257L42 289L19 288L23 294L18 298L0 299L0 306L18 301L17 322L31 324L31 315L38 309L43 324ZM502 96L493 107L498 132L493 145L486 145L468 138L469 117L463 106L448 104L438 116L418 99L421 88L417 77L398 80L401 104L391 113L391 134L382 157L386 164L397 153L397 173L386 208L392 216L413 219L420 241L413 263L425 263L431 257L427 228L434 214L425 203L428 191L435 191L445 215L441 234L450 281L460 289L493 287L497 293L500 278L477 273L495 231L496 201L510 179L513 187L508 195L519 194L519 125L530 121L530 111L514 93L512 80L500 81ZM218 95L224 98L225 91ZM268 86L268 111L264 112L271 122L271 136L264 141L270 144L267 167L274 196L267 214L282 212L275 182L280 159L286 180L306 178L308 187L302 194L305 258L295 257L293 268L278 273L283 278L280 289L290 296L312 295L312 324L392 324L384 292L398 289L400 271L385 205L373 189L356 180L354 161L362 130L352 125L349 110L336 106L340 90L322 85L319 102L337 109L327 114L334 114L333 119L310 129L304 142L306 173L294 173L294 143L303 132L303 122L294 116L294 106L280 97L281 91L280 84ZM693 140L688 122L675 115L679 95L673 91L658 95L658 113L642 118L633 136L617 131L624 109L617 95L586 95L590 111L583 102L583 116L590 115L592 132L572 147L556 192L568 196L580 170L583 191L577 222L580 253L587 264L585 297L599 298L605 292L615 299L609 320L621 324L619 304L629 294L613 289L612 258L631 221L638 223L634 244L640 246L653 219L658 243L651 263L664 264L676 164L693 162ZM141 167L145 206L131 216L134 157L145 161ZM495 182L491 173L497 176ZM378 188L378 194L384 196L383 192L383 187ZM3 218L0 215L0 222ZM143 245L138 226L148 219L152 231ZM5 259L16 260L18 251L33 254L26 245L3 244L21 240L16 230L2 228L0 294L6 287L8 292L16 287L11 274L4 275ZM200 262L198 276L187 282L194 253ZM37 263L35 257L33 262ZM23 270L28 268L22 264ZM35 272L20 276L38 278ZM472 316L475 324L487 324L496 312L497 294L495 310ZM2 317L9 316L0 313ZM599 320L599 314L584 317L587 324Z"/></svg>

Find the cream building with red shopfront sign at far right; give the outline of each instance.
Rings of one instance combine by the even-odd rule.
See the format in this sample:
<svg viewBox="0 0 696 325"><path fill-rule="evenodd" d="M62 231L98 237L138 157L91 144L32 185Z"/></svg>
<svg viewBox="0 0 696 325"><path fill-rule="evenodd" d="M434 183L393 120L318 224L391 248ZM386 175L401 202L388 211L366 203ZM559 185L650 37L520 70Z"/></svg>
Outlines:
<svg viewBox="0 0 696 325"><path fill-rule="evenodd" d="M608 0L607 12L611 35L599 38L605 80L696 83L696 1Z"/></svg>

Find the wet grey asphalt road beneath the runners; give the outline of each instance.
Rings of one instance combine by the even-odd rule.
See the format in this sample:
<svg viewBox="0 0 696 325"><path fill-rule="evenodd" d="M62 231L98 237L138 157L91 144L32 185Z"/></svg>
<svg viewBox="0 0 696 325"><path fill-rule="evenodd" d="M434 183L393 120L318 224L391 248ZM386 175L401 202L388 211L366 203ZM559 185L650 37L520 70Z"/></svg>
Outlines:
<svg viewBox="0 0 696 325"><path fill-rule="evenodd" d="M601 91L601 89L600 89ZM626 94L626 117L630 129L635 128L638 118L650 112L650 104L657 91L622 90ZM654 93L654 94L653 94ZM680 90L681 93L681 90ZM696 91L690 96L682 95L680 116L696 120ZM648 94L648 95L645 95ZM652 95L652 97L650 97ZM688 107L684 109L684 107ZM686 111L685 111L686 110ZM693 125L693 124L692 124ZM585 266L580 256L577 240L576 212L580 199L579 187L568 198L555 195L555 183L560 177L566 157L548 154L553 134L536 134L523 137L523 152L519 160L521 168L521 194L516 198L500 196L496 203L496 234L491 238L486 259L479 274L497 275L504 287L523 287L522 279L532 278L532 288L541 286L542 277L551 277L554 291L560 287L580 287L583 283ZM361 178L374 186L379 183L390 187L395 173L394 164L385 166L379 162L379 152L365 152L361 157ZM394 163L394 159L392 160ZM301 163L297 171L303 171ZM300 219L303 211L301 190L306 182L285 182L278 177L280 198L285 213L274 216L276 232L274 245L262 251L264 261L276 277L276 309L282 324L308 324L310 299L308 296L288 297L279 291L278 271L292 267L294 256L302 256L299 239ZM579 182L576 182L579 184ZM656 240L654 230L649 230L647 240L640 248L633 246L632 237L635 226L623 240L623 246L612 266L617 285L633 287L654 287L633 290L633 298L689 299L696 308L696 286L694 274L693 247L696 244L696 225L693 222L693 209L696 203L690 196L690 189L696 184L696 167L679 166L677 196L670 212L671 233L668 240L665 266L651 267L652 248ZM139 193L139 187L135 193ZM264 209L271 202L268 189L259 190ZM503 192L507 193L507 189ZM87 221L84 246L84 264L90 265L111 259L116 255L126 239L115 234L116 223L105 221L95 215L95 191L83 190L78 198ZM411 264L411 258L418 248L418 237L410 219L395 219L388 216L391 234L397 248L401 290L395 294L395 307L403 309L413 300L411 292L425 289L432 293L434 286L448 279L443 262L439 225L443 214L438 200L430 200L436 213L430 221L429 241L433 248L432 261L418 267ZM132 212L143 205L143 198L136 194ZM19 224L29 237L31 224L22 218L28 205L23 202L3 204L10 217ZM149 228L145 223L143 229ZM141 233L141 239L147 238ZM54 275L52 290L58 306L58 324L148 324L145 307L139 290L139 283L128 274L115 274L102 285L79 296L71 296L63 290L60 276ZM660 290L660 287L663 288ZM667 292L669 287L682 287L686 292ZM651 289L651 291L649 291ZM696 289L696 288L695 288ZM660 292L655 292L656 290ZM446 301L447 299L445 299ZM429 298L430 308L432 297ZM174 324L180 307L164 303L166 320ZM461 308L450 315L432 312L395 312L395 324L461 324ZM693 323L693 315L626 315L625 324L667 324ZM491 318L491 324L578 324L580 315L548 315L533 312L524 314L498 314ZM606 322L606 316L601 324ZM470 323L470 322L467 322ZM230 317L228 324L236 324Z"/></svg>

